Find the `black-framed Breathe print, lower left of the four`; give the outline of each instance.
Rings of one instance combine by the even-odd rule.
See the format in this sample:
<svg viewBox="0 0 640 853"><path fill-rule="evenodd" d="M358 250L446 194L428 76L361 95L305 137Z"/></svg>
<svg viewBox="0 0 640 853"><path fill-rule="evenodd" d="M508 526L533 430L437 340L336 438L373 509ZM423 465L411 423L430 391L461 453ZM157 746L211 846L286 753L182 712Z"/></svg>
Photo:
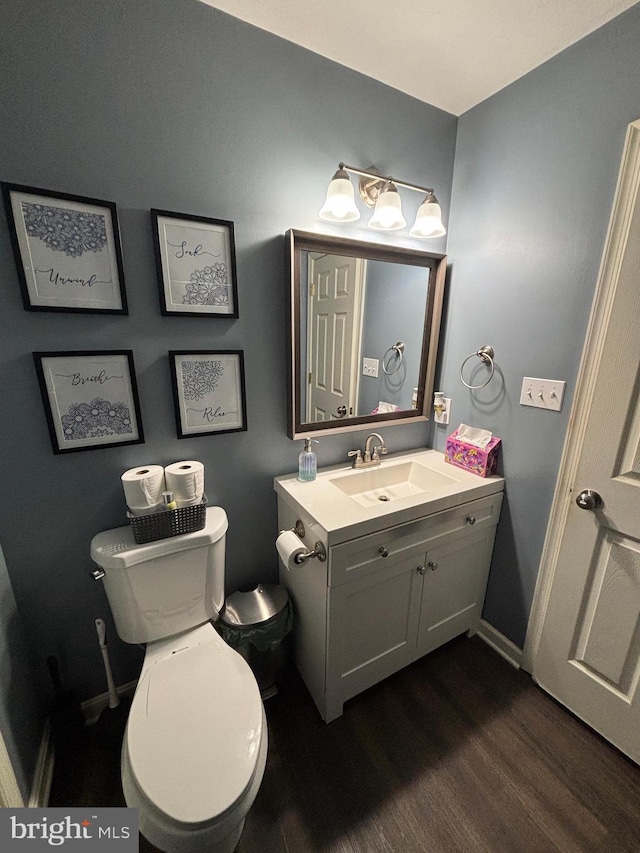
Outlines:
<svg viewBox="0 0 640 853"><path fill-rule="evenodd" d="M54 453L144 441L131 350L33 357Z"/></svg>

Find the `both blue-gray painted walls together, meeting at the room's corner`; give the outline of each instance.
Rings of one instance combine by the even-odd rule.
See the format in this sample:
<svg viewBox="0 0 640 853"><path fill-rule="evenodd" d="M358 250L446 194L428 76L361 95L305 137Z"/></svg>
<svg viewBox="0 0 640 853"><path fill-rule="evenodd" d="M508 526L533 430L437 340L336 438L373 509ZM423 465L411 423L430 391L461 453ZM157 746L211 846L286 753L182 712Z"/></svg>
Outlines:
<svg viewBox="0 0 640 853"><path fill-rule="evenodd" d="M2 19L0 178L117 202L130 305L128 317L25 312L2 220L0 539L40 663L56 654L82 696L105 688L93 619L108 607L85 569L93 534L124 521L119 476L133 465L201 459L229 514L229 590L275 578L271 478L296 470L299 452L286 438L281 235L331 232L316 211L339 160L436 187L446 215L454 148L438 380L452 424L385 439L442 449L460 421L503 438L485 618L521 644L625 129L640 115L640 9L459 122L196 0L15 0ZM160 317L150 207L234 221L238 321ZM371 239L362 222L333 233ZM496 377L471 394L458 370L485 343ZM244 349L248 432L176 440L166 351L188 347ZM83 348L133 349L145 445L53 456L31 351ZM524 375L566 379L563 412L520 407ZM365 434L323 439L319 464ZM135 677L140 650L111 648L118 681Z"/></svg>

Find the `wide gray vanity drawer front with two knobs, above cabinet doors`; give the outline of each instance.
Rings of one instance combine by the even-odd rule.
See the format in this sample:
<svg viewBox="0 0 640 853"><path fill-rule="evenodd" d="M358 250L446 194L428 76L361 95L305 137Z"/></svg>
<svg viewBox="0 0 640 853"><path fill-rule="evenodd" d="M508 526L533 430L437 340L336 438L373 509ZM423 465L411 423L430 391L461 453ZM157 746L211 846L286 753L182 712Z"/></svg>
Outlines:
<svg viewBox="0 0 640 853"><path fill-rule="evenodd" d="M446 536L466 536L498 523L502 492L451 509L352 539L330 550L329 586L339 586L384 568L387 563L411 557L416 566L426 550Z"/></svg>

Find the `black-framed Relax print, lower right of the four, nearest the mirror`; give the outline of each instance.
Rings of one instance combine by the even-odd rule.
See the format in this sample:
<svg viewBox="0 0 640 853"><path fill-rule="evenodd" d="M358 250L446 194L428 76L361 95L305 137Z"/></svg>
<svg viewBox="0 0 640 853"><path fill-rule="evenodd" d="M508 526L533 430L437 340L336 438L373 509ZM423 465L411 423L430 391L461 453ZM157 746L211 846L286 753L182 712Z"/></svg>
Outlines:
<svg viewBox="0 0 640 853"><path fill-rule="evenodd" d="M169 352L178 438L247 428L241 350Z"/></svg>

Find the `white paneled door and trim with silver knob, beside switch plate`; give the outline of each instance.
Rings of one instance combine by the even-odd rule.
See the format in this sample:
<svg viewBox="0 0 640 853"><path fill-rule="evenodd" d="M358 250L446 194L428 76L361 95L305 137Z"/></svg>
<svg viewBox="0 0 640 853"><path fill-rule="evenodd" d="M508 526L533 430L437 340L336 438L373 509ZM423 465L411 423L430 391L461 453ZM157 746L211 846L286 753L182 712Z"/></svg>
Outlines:
<svg viewBox="0 0 640 853"><path fill-rule="evenodd" d="M530 644L538 684L638 762L639 187L640 121L627 136Z"/></svg>

